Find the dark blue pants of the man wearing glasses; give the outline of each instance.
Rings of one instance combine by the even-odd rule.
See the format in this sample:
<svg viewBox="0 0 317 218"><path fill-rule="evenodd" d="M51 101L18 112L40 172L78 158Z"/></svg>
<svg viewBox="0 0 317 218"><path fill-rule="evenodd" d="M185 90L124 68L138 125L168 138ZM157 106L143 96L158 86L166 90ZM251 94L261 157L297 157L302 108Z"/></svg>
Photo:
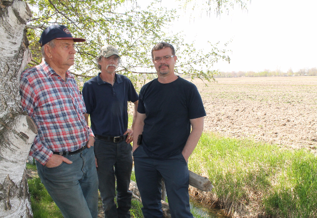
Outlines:
<svg viewBox="0 0 317 218"><path fill-rule="evenodd" d="M162 218L161 192L163 177L172 218L193 218L189 207L189 171L181 154L157 160L150 158L139 146L133 152L134 171L143 203L145 218Z"/></svg>

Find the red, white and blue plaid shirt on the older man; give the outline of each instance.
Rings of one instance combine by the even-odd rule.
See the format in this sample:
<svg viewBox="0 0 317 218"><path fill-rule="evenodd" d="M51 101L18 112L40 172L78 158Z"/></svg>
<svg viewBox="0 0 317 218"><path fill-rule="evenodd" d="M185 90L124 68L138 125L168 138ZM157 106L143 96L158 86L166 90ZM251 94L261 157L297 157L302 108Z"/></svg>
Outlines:
<svg viewBox="0 0 317 218"><path fill-rule="evenodd" d="M85 120L83 96L69 71L65 82L45 61L30 67L21 74L20 95L23 111L38 127L29 155L41 164L53 152L80 149L93 136Z"/></svg>

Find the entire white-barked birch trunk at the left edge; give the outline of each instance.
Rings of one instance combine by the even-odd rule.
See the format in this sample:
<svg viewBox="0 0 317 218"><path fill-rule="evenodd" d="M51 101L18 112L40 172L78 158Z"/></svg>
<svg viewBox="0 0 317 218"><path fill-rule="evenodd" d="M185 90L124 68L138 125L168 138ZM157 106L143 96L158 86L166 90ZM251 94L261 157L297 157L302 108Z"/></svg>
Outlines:
<svg viewBox="0 0 317 218"><path fill-rule="evenodd" d="M31 58L24 30L30 17L25 2L0 0L0 217L33 217L25 162L37 128L22 114L19 96Z"/></svg>

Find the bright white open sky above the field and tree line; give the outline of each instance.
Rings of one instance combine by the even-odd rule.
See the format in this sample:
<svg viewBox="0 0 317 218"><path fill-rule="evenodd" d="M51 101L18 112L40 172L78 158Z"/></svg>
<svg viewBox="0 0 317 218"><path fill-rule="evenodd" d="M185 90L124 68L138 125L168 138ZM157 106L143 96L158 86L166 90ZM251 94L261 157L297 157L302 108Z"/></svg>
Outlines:
<svg viewBox="0 0 317 218"><path fill-rule="evenodd" d="M143 7L149 0L137 2ZM160 5L171 9L177 4L162 0ZM204 48L207 41L224 44L232 39L228 46L231 62L215 65L220 71L286 72L292 68L296 72L317 66L316 10L316 0L252 0L248 11L235 6L229 15L220 17L179 10L181 17L172 28L173 32L183 31L186 42L195 41L197 48ZM190 18L192 12L195 19Z"/></svg>

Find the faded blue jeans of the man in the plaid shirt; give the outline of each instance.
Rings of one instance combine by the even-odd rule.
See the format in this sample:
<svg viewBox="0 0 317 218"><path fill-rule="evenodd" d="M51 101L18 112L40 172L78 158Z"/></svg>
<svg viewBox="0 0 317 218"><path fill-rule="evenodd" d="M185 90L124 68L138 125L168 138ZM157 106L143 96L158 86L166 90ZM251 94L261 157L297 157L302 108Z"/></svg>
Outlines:
<svg viewBox="0 0 317 218"><path fill-rule="evenodd" d="M36 162L42 183L65 218L96 218L98 177L93 148L65 157L73 163L48 168Z"/></svg>

